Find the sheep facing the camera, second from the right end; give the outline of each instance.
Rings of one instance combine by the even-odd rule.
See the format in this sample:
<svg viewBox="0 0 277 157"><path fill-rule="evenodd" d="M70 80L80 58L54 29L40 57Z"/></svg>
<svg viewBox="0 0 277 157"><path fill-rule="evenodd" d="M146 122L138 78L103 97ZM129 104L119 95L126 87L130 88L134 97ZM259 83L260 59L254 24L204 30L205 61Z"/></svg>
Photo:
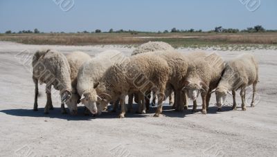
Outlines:
<svg viewBox="0 0 277 157"><path fill-rule="evenodd" d="M201 56L201 55L200 55ZM188 98L193 100L193 111L196 111L196 99L199 94L202 96L202 113L206 109L211 98L211 91L216 89L224 69L223 59L213 53L207 57L197 57L190 61L188 74L184 82L184 91L187 91Z"/></svg>

